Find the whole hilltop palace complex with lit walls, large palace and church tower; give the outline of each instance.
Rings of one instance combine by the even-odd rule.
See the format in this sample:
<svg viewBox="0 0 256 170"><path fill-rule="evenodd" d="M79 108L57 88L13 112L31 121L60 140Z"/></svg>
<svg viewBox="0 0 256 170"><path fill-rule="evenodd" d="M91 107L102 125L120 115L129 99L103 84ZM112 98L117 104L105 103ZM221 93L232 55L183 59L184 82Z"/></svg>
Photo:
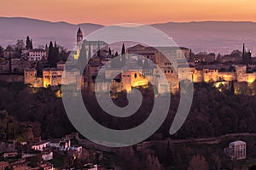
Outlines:
<svg viewBox="0 0 256 170"><path fill-rule="evenodd" d="M82 88L90 88L91 91L120 92L125 90L131 92L131 88L147 88L149 78L161 94L165 93L166 88L170 88L172 93L176 93L179 90L179 81L182 79L189 79L192 82L224 83L232 81L251 83L256 79L256 72L248 69L252 58L251 52L246 50L245 45L243 46L241 62L232 65L233 69L224 69L225 65L196 65L198 59L189 58L191 53L189 48L152 48L140 44L126 48L126 50L123 46L122 54L126 57L121 57L122 59L119 61L122 65L116 68L113 65L108 65L108 61L114 58L108 44L102 41L83 41L83 33L80 28L77 32L77 45L77 50L72 52L74 63L79 62L79 55L82 53L85 57L94 54L88 62L89 64L86 65L84 72L81 73L77 69L64 71L65 62L61 60L56 67L44 68L41 77L38 77L35 68L26 68L24 70L24 83L30 84L34 88L47 88L81 81ZM160 49L161 53L157 49ZM44 51L41 53L44 54ZM47 54L47 51L45 54ZM177 59L175 61L177 62L177 69L174 69L173 63L164 57L166 54ZM47 58L47 56L45 57ZM160 67L169 82L169 87L164 87L162 82L155 78L159 74L157 68L145 61L143 57L151 59ZM130 71L125 70L125 64L127 63L134 65L131 66ZM104 70L102 81L99 79L100 81L96 82L96 77L102 68ZM121 71L120 74L118 74L119 71ZM82 75L82 80L80 75ZM113 78L113 75L119 76ZM67 77L67 81L61 82L61 77Z"/></svg>

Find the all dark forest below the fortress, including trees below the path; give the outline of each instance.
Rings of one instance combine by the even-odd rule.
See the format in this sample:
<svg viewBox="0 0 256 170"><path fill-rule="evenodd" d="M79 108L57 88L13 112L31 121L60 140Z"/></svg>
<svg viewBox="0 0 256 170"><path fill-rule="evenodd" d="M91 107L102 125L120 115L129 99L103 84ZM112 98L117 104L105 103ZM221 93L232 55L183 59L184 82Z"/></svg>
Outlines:
<svg viewBox="0 0 256 170"><path fill-rule="evenodd" d="M168 141L218 137L227 133L256 133L256 127L253 126L256 122L256 96L241 93L252 93L256 89L256 83L253 82L250 86L243 83L234 84L236 89L240 89L240 94L236 94L235 89L230 90L230 87L213 88L211 83L196 83L189 116L183 127L174 135L169 134L169 128L177 111L179 95L172 95L166 121L147 139L160 139L165 142L154 144L154 147L146 150L140 150L138 146L120 149L111 157L108 164L112 162L120 167L127 167L126 169L218 169L223 163L223 148L230 141L225 141L224 145L211 147L204 144L177 145ZM84 105L97 122L113 129L128 129L144 122L154 105L153 88L139 90L143 94L143 103L137 113L125 118L108 115L97 104L95 94L89 93L86 89L83 89L82 93ZM127 105L126 94L117 94L113 102L120 107ZM60 97L60 88L28 88L22 83L1 82L0 116L1 140L18 139L30 142L33 137L61 138L76 131L67 118ZM248 144L248 156L254 156L254 143ZM198 163L201 168L198 167Z"/></svg>

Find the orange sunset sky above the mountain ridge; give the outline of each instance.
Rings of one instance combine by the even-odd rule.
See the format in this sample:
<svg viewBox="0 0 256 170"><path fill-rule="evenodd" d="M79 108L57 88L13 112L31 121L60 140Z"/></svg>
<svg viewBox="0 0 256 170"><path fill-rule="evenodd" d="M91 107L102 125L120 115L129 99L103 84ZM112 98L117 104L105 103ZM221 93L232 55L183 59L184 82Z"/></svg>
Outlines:
<svg viewBox="0 0 256 170"><path fill-rule="evenodd" d="M1 0L0 16L73 24L256 21L255 0Z"/></svg>

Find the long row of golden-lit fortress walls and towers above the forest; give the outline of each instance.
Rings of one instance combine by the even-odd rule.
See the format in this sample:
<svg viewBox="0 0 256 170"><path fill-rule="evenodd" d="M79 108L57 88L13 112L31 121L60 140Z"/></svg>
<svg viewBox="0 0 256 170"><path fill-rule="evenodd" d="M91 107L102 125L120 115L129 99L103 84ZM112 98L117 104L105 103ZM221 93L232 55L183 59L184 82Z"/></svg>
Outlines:
<svg viewBox="0 0 256 170"><path fill-rule="evenodd" d="M58 68L46 68L43 71L43 77L37 77L37 70L26 69L24 71L24 83L30 84L34 88L47 88L49 86L59 86L61 84L77 83L82 87L89 87L91 91L97 90L98 92L131 92L131 88L148 88L149 80L153 81L157 86L159 93L165 93L166 88L172 93L177 93L179 90L179 81L191 78L192 82L249 82L252 83L256 80L256 72L247 73L245 65L236 65L235 71L218 72L218 70L202 69L196 70L195 67L185 67L180 65L175 72L172 67L161 68L162 72L166 76L166 80L169 83L169 87L163 87L164 82L161 82L160 72L156 68L143 67L133 69L130 71L121 71L119 69L109 69L105 71L104 79L99 82L92 80L96 77L100 71L100 67L90 67L90 81L81 81L80 72L76 69L71 71L63 71ZM188 74L189 73L189 74ZM119 75L111 80L113 75ZM189 75L189 77L188 77ZM66 77L66 82L61 82L61 77ZM84 80L84 77L82 77ZM100 79L99 79L100 80ZM111 83L109 83L111 82ZM84 86L84 83L87 85ZM214 85L215 86L215 85Z"/></svg>

